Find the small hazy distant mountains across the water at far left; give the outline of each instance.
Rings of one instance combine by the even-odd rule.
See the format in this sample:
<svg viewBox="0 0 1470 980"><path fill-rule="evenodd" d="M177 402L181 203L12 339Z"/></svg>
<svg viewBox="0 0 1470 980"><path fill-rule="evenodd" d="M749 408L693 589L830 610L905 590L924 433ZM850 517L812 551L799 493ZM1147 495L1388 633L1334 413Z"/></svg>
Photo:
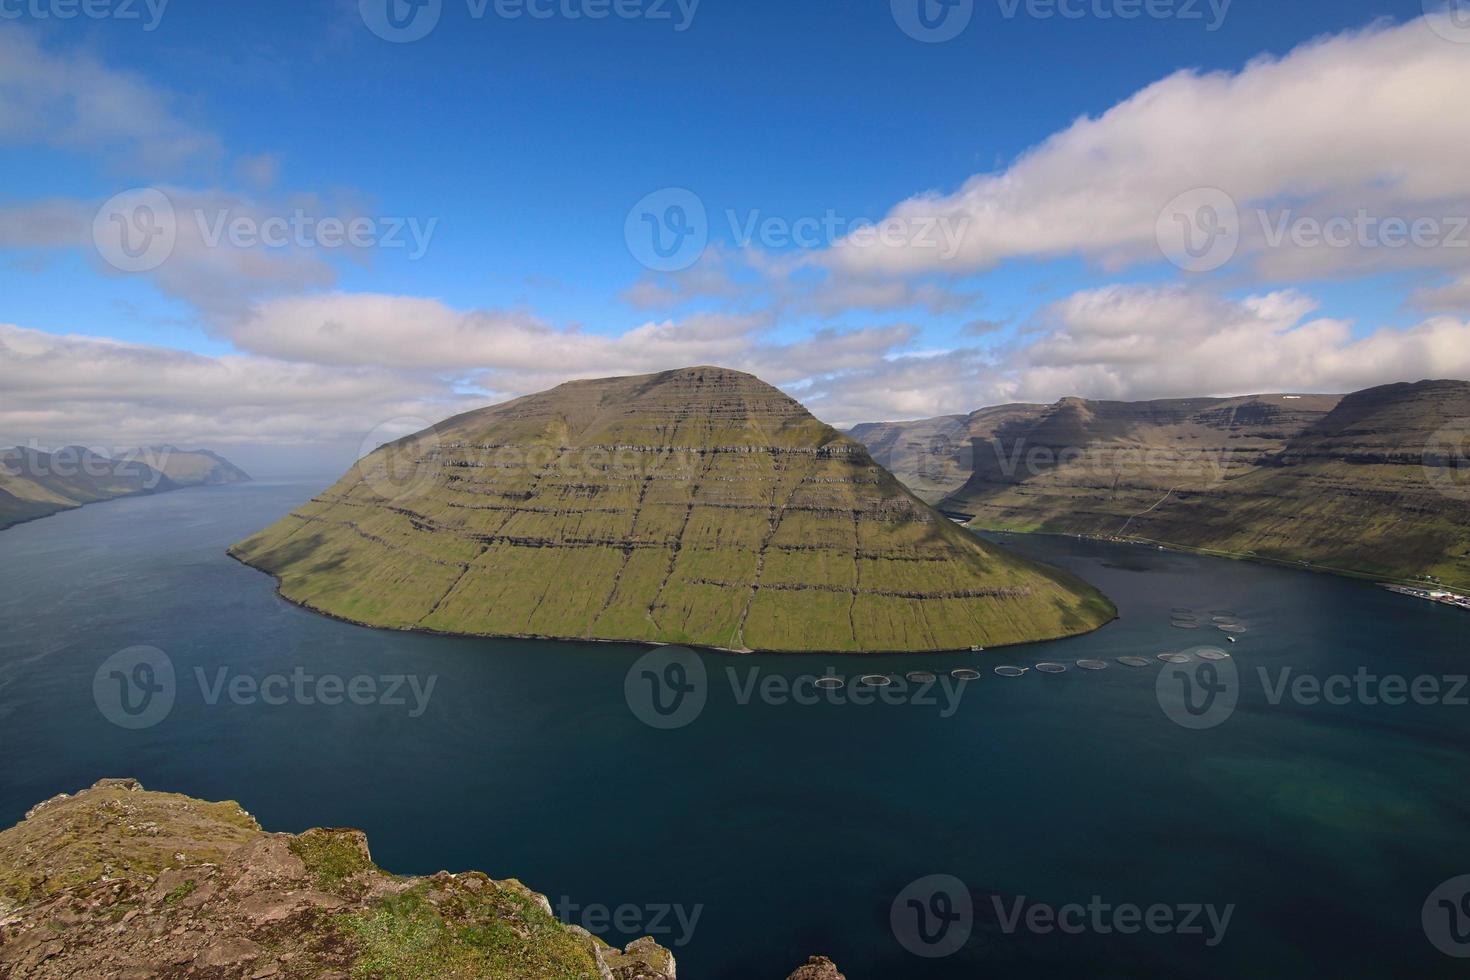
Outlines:
<svg viewBox="0 0 1470 980"><path fill-rule="evenodd" d="M118 497L248 479L209 450L146 447L110 457L79 445L16 447L0 451L0 527Z"/></svg>

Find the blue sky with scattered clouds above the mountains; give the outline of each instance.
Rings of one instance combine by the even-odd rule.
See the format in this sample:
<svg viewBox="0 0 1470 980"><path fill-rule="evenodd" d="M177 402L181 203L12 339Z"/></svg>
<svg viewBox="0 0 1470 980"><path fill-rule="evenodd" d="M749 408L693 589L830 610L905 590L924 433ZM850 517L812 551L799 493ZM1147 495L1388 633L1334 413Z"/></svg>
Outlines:
<svg viewBox="0 0 1470 980"><path fill-rule="evenodd" d="M368 7L373 1L365 0ZM920 1L935 0L911 0ZM125 341L157 357L173 353L273 361L250 370L275 370L281 364L312 372L381 369L404 385L395 404L417 403L425 414L432 414L435 406L460 407L457 397L495 400L563 375L616 373L625 366L673 367L678 364L664 360L685 351L735 354L744 348L726 341L741 338L750 353L736 366L775 364L778 376L772 379L808 395L814 408L826 406L825 417L857 422L878 414L970 410L1005 397L1176 394L1169 385L1141 381L1150 373L1147 367L1135 376L1126 363L1110 361L1092 364L1091 372L1067 373L1061 366L1076 367L1085 360L1078 351L1051 360L1038 351L1025 353L1047 331L1066 332L1067 317L1076 311L1067 313L1063 304L1088 295L1097 300L1100 289L1122 291L1111 294L1108 307L1130 310L1142 306L1141 297L1157 298L1160 292L1169 303L1180 303L1183 297L1173 291L1186 291L1189 303L1202 304L1189 309L1208 307L1226 320L1233 316L1227 310L1232 304L1267 294L1282 300L1280 294L1289 292L1286 298L1299 301L1288 304L1291 309L1310 306L1302 316L1347 325L1349 338L1333 341L1339 348L1379 331L1413 331L1426 317L1454 313L1446 310L1448 300L1433 306L1414 300L1436 288L1449 300L1458 297L1455 284L1467 263L1448 247L1432 257L1416 253L1413 262L1361 248L1351 250L1352 260L1314 260L1302 253L1301 262L1273 266L1260 257L1236 259L1205 275L1182 273L1157 248L1098 241L1086 219L1078 219L1078 231L1060 238L1048 232L1048 244L1032 247L1025 228L1055 225L1051 204L1063 191L1017 169L1028 151L1044 147L1075 120L1098 120L1177 72L1186 72L1183 81L1164 91L1188 88L1189 100L1214 106L1201 112L1220 113L1222 145L1245 145L1257 138L1248 104L1251 85L1245 84L1247 76L1254 78L1252 63L1277 59L1277 65L1294 66L1305 60L1298 47L1314 38L1338 41L1332 72L1304 65L1307 81L1295 75L1263 81L1270 94L1261 97L1260 122L1266 122L1267 112L1299 110L1310 126L1310 71L1335 88L1341 84L1326 81L1330 73L1358 72L1364 91L1373 91L1373 73L1402 62L1402 54L1394 53L1395 44L1421 56L1426 76L1442 78L1470 59L1470 44L1435 37L1421 24L1413 43L1404 40L1405 34L1395 35L1398 41L1389 38L1392 31L1408 31L1423 18L1419 0L1235 0L1223 10L1205 0L1179 0L1189 4L1188 12L1198 12L1198 19L1116 16L1129 0L1079 1L1073 4L1076 18L1045 18L1036 12L1047 7L1035 1L1022 3L1014 16L1007 16L1011 4L1005 0L975 0L973 19L958 37L922 43L901 29L889 0L703 0L692 16L670 0L659 3L669 19L598 21L563 13L507 19L494 15L494 1L487 16L473 18L466 0L442 0L434 31L400 44L368 28L357 0L172 0L156 29L146 29L151 15L143 0L135 4L140 19L71 21L35 16L54 10L57 0L4 0L0 40L9 38L12 47L0 47L0 53L9 51L12 71L9 84L0 75L0 97L22 103L22 110L12 107L21 122L12 119L9 125L0 112L0 220L10 225L9 234L0 234L0 323L49 335ZM588 0L557 3L563 10L581 10ZM641 0L639 9L653 3ZM1114 16L1102 16L1108 12ZM1217 18L1220 24L1211 24ZM685 19L688 24L681 24ZM1363 31L1379 35L1372 50L1352 47L1351 38L1360 38ZM1374 60L1379 57L1382 62ZM31 69L32 63L51 71ZM25 75L18 65L26 68ZM75 81L78 65L87 68L85 88ZM1242 79L1242 91L1213 93L1211 72ZM1280 73L1288 72L1283 68ZM121 91L115 88L119 79L126 93L109 104L109 93ZM1274 110L1273 98L1280 100ZM1427 91L1424 98L1441 100L1441 115L1451 113L1463 90L1460 96ZM82 103L100 107L82 112ZM0 101L0 107L4 104ZM1385 125L1396 125L1404 116L1392 106L1379 106L1377 112ZM1330 112L1323 118L1330 120ZM1183 132L1198 122L1188 116L1180 120L1180 141L1200 143ZM1351 113L1344 112L1336 125L1352 125ZM1373 125L1373 119L1366 118L1363 125ZM1430 126L1421 129L1423 138L1432 141ZM1157 129L1154 134L1151 138L1158 138ZM1111 162L1098 157L1095 184L1085 182L1094 167L1086 153L1073 166L1058 151L1051 154L1058 160L1038 169L1075 170L1089 192L1110 201L1110 188L1119 187L1114 173L1123 173L1113 167L1122 166L1117 157L1126 156L1132 137L1127 125L1119 123L1111 132L1100 126L1097 138L1102 148L1092 153L1105 153ZM1417 132L1407 134L1410 148L1401 166L1385 157L1382 172L1374 172L1374 162L1363 159L1357 172L1307 191L1308 151L1322 151L1322 135L1314 137L1319 145L1299 153L1282 147L1269 132L1260 138L1264 143L1257 153L1270 159L1274 170L1270 181L1260 175L1242 181L1239 192L1227 188L1242 206L1245 198L1289 198L1292 206L1332 215L1351 210L1348 206L1361 198L1405 217L1458 213L1461 188L1446 194L1435 185L1432 192L1405 191L1389 198L1377 194L1385 182L1416 184L1410 178L1420 151L1413 145ZM1394 138L1405 134L1395 132ZM175 143L188 148L178 150ZM1139 151L1141 160L1160 156L1157 147L1148 148L1148 140L1139 141ZM1188 154L1180 150L1180 156ZM1048 159L1045 151L1041 157L1042 163ZM1210 157L1182 159L1170 167L1172 173L1200 172L1201 187L1225 187L1252 169L1252 159L1245 154L1233 165L1222 160L1219 172L1210 172ZM1294 166L1301 173L1294 173ZM1126 172L1129 178L1135 170ZM985 245L983 257L954 264L920 262L914 267L894 256L892 262L860 263L860 272L848 269L844 282L850 287L858 279L864 285L881 279L891 288L894 292L882 301L854 304L851 291L844 294L848 298L836 297L835 279L825 279L816 291L798 289L800 298L782 292L794 289L782 282L829 276L832 242L807 250L772 241L742 245L732 241L726 220L728 210L741 219L756 215L778 222L832 215L848 228L858 219L883 219L911 200L938 200L953 210L966 182L983 175L1014 179L980 192L982 204L966 219L966 234L985 231L986 216L994 213L986 209L994 207L1003 207L1007 220L1022 231L994 248ZM1013 194L1007 190L1011 185L1020 190ZM235 250L238 256L222 259L216 247L203 257L175 256L172 266L157 272L123 275L98 262L91 242L47 231L78 215L88 217L103 201L131 188L162 188L181 207L194 198L225 201L232 215L256 219L288 213L306 201L304 210L315 217L365 215L379 228L398 219L432 223L432 237L422 257L382 247L351 257L320 247L275 253L243 247ZM710 250L692 270L650 272L625 238L629 209L662 188L692 191L710 216ZM1173 197L1166 190L1191 188L1160 187L1161 200L1150 201L1148 213ZM1138 190L1116 194L1136 197ZM1080 197L1076 200L1079 209L1092 210ZM1026 213L1032 206L1035 216ZM38 212L51 217L43 220ZM69 217L56 219L56 213ZM1105 220L1107 209L1095 213L1098 222ZM278 267L254 267L262 254ZM772 272L773 263L785 272ZM670 298L670 288L679 298ZM903 291L914 288L929 289L929 298L906 300ZM316 304L310 309L322 319L297 329L272 304L322 295L381 297L388 304L384 319L404 309L390 298L435 301L448 313L440 326L432 316L417 326L404 325L407 336L387 336L385 326L365 326L354 334L357 328L348 323L343 351L331 353L322 344L306 350L298 342L301 334L325 336L329 331L323 323L340 326L345 314L320 313L326 307ZM344 309L356 310L365 322L376 316L360 303ZM300 307L285 311L300 314ZM1144 316L1154 317L1148 329L1157 329L1157 313ZM454 317L470 317L473 326L456 326ZM450 336L469 331L462 335L490 344L495 331L504 329L501 317L519 322L532 336L535 331L550 332L557 339L547 345L551 361L532 363L529 356L516 354L495 363L492 356L476 353L488 347L472 347L462 364L444 359L404 361L404 350L415 348L413 331L422 331L420 336L435 329ZM1273 322L1277 334L1285 329L1283 322ZM645 325L663 325L659 344L650 347L639 335L629 335ZM285 338L285 331L297 332ZM525 342L517 336L507 347ZM597 354L603 348L592 348L576 363L566 360L570 354L559 344L569 336L614 341L606 348L606 370L597 370L603 367ZM848 336L861 351L822 363L817 354L835 336ZM381 354L365 356L378 341ZM638 350L629 353L632 348ZM650 354L653 348L667 350ZM961 359L950 373L964 372L966 383L941 389L913 376L922 367L914 361L938 356ZM557 357L566 363L559 364ZM1420 364L1411 359L1405 363ZM1055 370L1026 373L1039 370L1038 364ZM1261 386L1342 386L1360 375L1344 369L1291 383L1288 372L1261 376ZM1197 372L1173 383L1207 379L1207 372ZM1248 382L1242 378L1220 383ZM1055 389L1047 389L1048 383ZM1060 386L1067 383L1082 389L1063 391ZM845 397L842 388L866 394ZM903 397L885 401L882 392L895 388ZM126 400L101 391L84 401L97 408ZM269 397L257 401L265 404ZM191 411L178 400L169 404L178 410L176 419L206 413L201 406ZM372 416L384 410L387 406L366 408L366 420L379 422ZM345 429L338 423L351 411L334 406L332 414L332 438L348 438L356 423ZM259 413L245 416L254 422L240 429L188 422L188 432L179 438L306 438L300 430L290 432L290 426L265 423ZM37 426L32 411L26 419L10 419L4 435L35 438L29 426L60 438L62 422ZM148 411L138 410L129 416L135 425L125 428L141 435L166 428L166 417L157 411L148 420ZM101 416L88 422L87 411L78 407L66 419L65 425L78 429L75 438L107 438ZM0 423L6 422L0 417Z"/></svg>

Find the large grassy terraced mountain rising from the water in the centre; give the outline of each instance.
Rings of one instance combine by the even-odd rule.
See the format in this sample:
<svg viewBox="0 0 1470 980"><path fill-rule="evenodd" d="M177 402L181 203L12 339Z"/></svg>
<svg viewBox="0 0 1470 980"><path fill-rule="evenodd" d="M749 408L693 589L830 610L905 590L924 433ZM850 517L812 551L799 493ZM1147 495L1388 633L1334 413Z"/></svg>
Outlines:
<svg viewBox="0 0 1470 980"><path fill-rule="evenodd" d="M450 419L231 554L310 608L472 635L897 652L1114 616L720 367L572 382Z"/></svg>

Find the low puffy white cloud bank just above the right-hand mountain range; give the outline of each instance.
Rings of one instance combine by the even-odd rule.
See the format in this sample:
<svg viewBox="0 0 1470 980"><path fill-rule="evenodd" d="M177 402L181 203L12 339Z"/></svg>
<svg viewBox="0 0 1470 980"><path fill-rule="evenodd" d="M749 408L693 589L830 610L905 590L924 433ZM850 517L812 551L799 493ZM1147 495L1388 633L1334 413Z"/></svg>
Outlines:
<svg viewBox="0 0 1470 980"><path fill-rule="evenodd" d="M1023 339L900 354L803 389L823 419L923 419L1067 395L1136 401L1263 392L1349 392L1470 378L1470 322L1430 317L1357 335L1297 291L1229 300L1183 287L1104 287L1047 307Z"/></svg>

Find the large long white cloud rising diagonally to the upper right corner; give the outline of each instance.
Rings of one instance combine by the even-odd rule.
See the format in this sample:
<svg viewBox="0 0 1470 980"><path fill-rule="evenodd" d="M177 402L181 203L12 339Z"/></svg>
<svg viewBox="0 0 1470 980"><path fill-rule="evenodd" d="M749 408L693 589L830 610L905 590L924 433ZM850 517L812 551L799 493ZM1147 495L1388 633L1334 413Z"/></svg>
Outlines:
<svg viewBox="0 0 1470 980"><path fill-rule="evenodd" d="M1273 245L1291 220L1470 215L1470 47L1423 21L1376 25L1261 57L1239 72L1177 72L1098 118L1082 118L1008 169L891 217L963 222L953 260L914 244L842 242L833 269L916 275L980 270L1017 256L1085 256L1108 267L1160 259L1157 223L1177 195L1226 191L1242 210L1242 257L1266 275L1380 264L1460 264L1455 247ZM1264 209L1263 223L1254 209ZM1264 225L1264 226L1263 226ZM1446 235L1448 237L1448 235Z"/></svg>

